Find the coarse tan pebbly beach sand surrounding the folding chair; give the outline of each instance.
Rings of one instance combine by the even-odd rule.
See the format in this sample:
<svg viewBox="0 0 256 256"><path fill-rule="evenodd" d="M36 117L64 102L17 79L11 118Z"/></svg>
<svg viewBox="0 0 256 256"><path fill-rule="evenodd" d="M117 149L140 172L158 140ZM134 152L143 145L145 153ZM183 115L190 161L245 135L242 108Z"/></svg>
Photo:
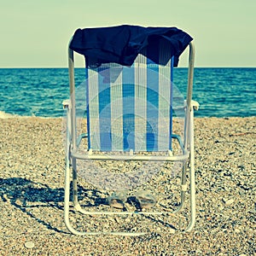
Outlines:
<svg viewBox="0 0 256 256"><path fill-rule="evenodd" d="M0 119L0 255L256 255L256 117L195 119L195 228L139 237L68 232L61 123Z"/></svg>

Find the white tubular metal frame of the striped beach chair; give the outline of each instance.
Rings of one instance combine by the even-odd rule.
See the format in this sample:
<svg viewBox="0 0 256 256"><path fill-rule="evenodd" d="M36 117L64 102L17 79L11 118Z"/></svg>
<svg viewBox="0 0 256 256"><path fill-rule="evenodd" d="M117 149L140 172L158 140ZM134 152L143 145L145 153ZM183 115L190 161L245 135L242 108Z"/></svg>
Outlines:
<svg viewBox="0 0 256 256"><path fill-rule="evenodd" d="M199 108L198 102L192 101L193 90L193 76L194 76L194 61L195 61L195 46L193 42L189 44L189 73L188 73L188 87L187 96L184 102L185 108L185 126L184 126L184 140L181 142L178 136L173 135L172 138L177 139L183 154L172 155L170 152L167 156L150 156L147 155L116 155L113 154L113 160L154 160L154 161L181 161L183 162L183 170L181 177L181 200L180 205L172 213L180 212L183 209L185 194L187 191L187 170L189 168L189 192L190 192L190 222L184 231L190 231L195 225L195 153L194 153L194 110ZM73 183L73 208L83 214L106 214L106 215L161 215L166 212L88 212L85 211L79 204L78 198L78 177L76 169L76 160L111 160L109 156L94 154L91 150L88 154L79 154L79 144L82 139L87 137L87 134L81 134L77 137L76 134L76 112L75 112L75 82L74 82L74 55L73 50L68 47L68 70L69 70L69 84L70 84L70 99L63 102L63 108L67 112L67 145L66 145L66 170L65 170L65 199L64 199L64 219L67 229L74 235L121 235L121 236L141 236L144 232L86 232L75 230L70 223L70 183ZM76 138L76 139L73 139ZM132 157L131 157L132 154ZM170 214L170 212L168 212Z"/></svg>

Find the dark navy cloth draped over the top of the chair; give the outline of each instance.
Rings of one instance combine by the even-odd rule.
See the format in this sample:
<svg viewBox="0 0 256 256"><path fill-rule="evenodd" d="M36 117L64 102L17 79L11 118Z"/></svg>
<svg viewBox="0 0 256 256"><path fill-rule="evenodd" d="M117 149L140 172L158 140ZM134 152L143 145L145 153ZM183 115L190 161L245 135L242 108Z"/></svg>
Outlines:
<svg viewBox="0 0 256 256"><path fill-rule="evenodd" d="M99 67L102 63L115 62L131 66L139 53L147 48L146 55L159 63L159 44L170 47L174 67L193 38L177 27L109 26L78 29L69 45L70 49L85 56L86 65Z"/></svg>

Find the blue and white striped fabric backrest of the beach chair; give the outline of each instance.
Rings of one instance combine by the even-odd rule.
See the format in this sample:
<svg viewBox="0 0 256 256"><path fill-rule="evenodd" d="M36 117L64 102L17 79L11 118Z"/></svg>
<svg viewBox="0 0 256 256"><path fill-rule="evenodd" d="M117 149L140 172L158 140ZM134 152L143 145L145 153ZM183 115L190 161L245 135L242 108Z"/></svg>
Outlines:
<svg viewBox="0 0 256 256"><path fill-rule="evenodd" d="M170 49L148 49L131 67L105 63L86 67L89 148L96 151L172 149L172 68ZM155 53L155 51L154 51Z"/></svg>

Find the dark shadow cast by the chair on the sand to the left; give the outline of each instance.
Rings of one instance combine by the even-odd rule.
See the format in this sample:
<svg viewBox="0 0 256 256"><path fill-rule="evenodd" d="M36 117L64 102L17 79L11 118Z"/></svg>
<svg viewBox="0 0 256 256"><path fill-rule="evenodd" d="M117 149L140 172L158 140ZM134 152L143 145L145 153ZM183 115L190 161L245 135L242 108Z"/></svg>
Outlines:
<svg viewBox="0 0 256 256"><path fill-rule="evenodd" d="M106 200L99 197L97 190L84 189L79 186L79 200L84 199L84 197L90 198L90 201L85 201L83 207L96 207L106 204ZM44 207L53 207L64 214L64 189L52 189L47 184L34 183L29 179L21 177L0 178L0 198L3 202L9 201L12 206L26 213L30 218L35 219L48 230L70 234L69 232L58 230L47 223L46 220L38 218L32 213L32 209L35 207L42 208L42 211L44 211Z"/></svg>

